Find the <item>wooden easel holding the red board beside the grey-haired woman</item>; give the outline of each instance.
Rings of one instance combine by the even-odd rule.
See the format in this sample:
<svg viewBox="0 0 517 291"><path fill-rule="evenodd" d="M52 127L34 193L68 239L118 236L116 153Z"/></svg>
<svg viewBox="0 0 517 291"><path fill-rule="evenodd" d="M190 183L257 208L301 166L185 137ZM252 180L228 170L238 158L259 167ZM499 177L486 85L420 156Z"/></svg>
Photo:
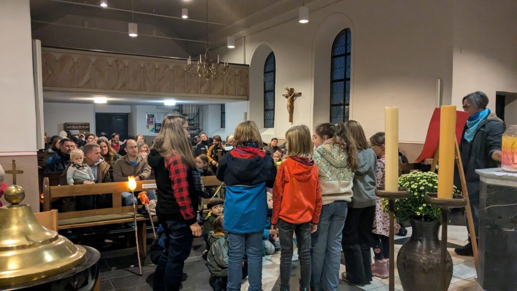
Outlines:
<svg viewBox="0 0 517 291"><path fill-rule="evenodd" d="M465 179L465 172L463 171L463 162L461 159L460 146L458 145L458 139L454 140L455 148L454 148L454 156L456 158L456 165L458 166L458 174L460 175L461 182L461 191L463 197L467 200L467 204L465 205L465 211L467 213L467 226L470 232L470 242L472 243L472 252L474 253L474 264L476 265L476 272L478 269L478 241L476 240L476 230L474 228L474 219L472 217L472 209L470 209L470 200L468 198L468 190L467 190L467 182ZM434 173L436 171L436 165L438 164L438 147L436 147L436 151L434 152L433 162L431 163L431 171ZM447 242L445 242L447 243Z"/></svg>

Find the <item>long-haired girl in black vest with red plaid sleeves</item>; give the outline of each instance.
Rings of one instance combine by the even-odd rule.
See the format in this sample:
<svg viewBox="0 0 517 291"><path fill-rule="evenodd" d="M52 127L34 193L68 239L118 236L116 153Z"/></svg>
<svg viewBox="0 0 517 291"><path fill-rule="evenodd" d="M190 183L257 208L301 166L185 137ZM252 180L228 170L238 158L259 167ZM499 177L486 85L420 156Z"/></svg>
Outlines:
<svg viewBox="0 0 517 291"><path fill-rule="evenodd" d="M165 251L156 267L153 290L179 289L192 241L202 233L196 221L202 183L187 139L188 126L185 117L167 115L147 156L158 188L156 215L165 231Z"/></svg>

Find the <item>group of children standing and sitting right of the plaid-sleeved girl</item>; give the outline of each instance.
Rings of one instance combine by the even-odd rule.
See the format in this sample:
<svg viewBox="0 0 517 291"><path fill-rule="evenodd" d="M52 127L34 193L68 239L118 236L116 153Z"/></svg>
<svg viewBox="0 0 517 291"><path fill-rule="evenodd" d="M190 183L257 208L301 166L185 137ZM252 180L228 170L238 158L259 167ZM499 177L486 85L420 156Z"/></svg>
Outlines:
<svg viewBox="0 0 517 291"><path fill-rule="evenodd" d="M199 176L215 173L225 185L224 195L204 194L211 197L202 218L211 287L240 290L248 276L249 290L261 290L262 257L280 250L280 290L290 290L295 249L303 291L337 289L341 251L344 281L386 278L388 219L375 196L384 184L384 133L368 142L361 125L348 121L321 124L313 135L293 126L285 139L263 147L256 124L244 121L231 144L214 137L209 156L195 157Z"/></svg>

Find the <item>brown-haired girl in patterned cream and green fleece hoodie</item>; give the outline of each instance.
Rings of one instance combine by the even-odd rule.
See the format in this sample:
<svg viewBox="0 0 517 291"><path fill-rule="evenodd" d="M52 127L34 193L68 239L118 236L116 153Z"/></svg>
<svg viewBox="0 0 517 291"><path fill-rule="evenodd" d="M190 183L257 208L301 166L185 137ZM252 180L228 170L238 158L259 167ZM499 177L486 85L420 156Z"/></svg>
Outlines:
<svg viewBox="0 0 517 291"><path fill-rule="evenodd" d="M342 232L357 169L355 142L342 134L343 130L341 124L323 123L313 135L314 162L320 174L323 199L320 223L311 238L314 291L337 290L339 285Z"/></svg>

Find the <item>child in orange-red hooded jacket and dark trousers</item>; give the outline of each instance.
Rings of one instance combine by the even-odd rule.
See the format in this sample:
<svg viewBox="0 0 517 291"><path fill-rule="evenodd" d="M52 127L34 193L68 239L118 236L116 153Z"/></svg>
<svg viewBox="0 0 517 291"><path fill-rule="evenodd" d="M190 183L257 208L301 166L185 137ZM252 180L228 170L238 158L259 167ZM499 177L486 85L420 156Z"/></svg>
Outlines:
<svg viewBox="0 0 517 291"><path fill-rule="evenodd" d="M271 224L280 237L280 290L289 290L293 259L293 232L300 260L300 290L311 282L311 234L316 231L322 210L318 169L312 161L311 133L306 125L291 127L285 133L287 155L277 170L273 187Z"/></svg>

